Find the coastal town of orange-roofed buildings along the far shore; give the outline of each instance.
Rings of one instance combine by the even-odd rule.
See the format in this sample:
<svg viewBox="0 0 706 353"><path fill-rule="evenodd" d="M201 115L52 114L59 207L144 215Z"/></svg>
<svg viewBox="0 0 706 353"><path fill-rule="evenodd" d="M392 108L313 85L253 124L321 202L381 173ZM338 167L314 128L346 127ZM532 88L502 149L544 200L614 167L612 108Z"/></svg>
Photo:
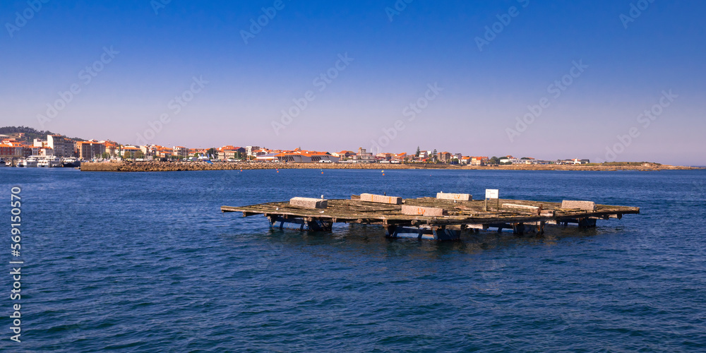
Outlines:
<svg viewBox="0 0 706 353"><path fill-rule="evenodd" d="M186 146L123 145L110 140L80 140L59 134L28 138L25 133L0 135L0 158L7 166L78 167L80 162L182 161L182 162L273 162L273 163L425 163L456 165L506 164L589 164L590 160L573 158L539 160L534 157L487 157L461 152L422 150L415 152L371 152L366 148L337 152L285 150L260 146L225 145L213 148Z"/></svg>

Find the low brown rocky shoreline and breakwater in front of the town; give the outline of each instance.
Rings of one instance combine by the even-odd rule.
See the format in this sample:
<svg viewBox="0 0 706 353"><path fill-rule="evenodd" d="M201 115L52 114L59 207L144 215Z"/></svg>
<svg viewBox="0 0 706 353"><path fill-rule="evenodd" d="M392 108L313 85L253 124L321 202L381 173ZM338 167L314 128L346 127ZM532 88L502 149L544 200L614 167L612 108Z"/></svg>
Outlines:
<svg viewBox="0 0 706 353"><path fill-rule="evenodd" d="M382 164L382 163L277 163L277 162L85 162L84 172L179 172L196 170L239 169L458 169L458 170L567 170L609 172L635 170L656 172L662 170L702 169L665 164L510 164L510 165L455 165L432 163Z"/></svg>

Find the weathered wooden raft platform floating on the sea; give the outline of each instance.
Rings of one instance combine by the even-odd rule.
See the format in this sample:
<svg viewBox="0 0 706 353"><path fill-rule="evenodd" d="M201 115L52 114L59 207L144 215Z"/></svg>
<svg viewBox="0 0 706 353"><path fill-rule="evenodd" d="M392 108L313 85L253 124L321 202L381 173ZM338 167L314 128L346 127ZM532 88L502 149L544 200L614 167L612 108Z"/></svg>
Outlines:
<svg viewBox="0 0 706 353"><path fill-rule="evenodd" d="M570 204L570 203L566 203ZM496 207L497 205L497 207ZM443 215L408 215L405 206L442 209ZM640 208L595 205L594 208L561 208L561 203L500 199L493 200L490 210L485 201L454 201L439 198L407 198L401 205L352 199L328 200L326 208L302 208L288 201L262 203L242 207L222 206L222 212L241 212L245 217L265 215L270 227L301 230L330 230L333 223L360 223L385 227L387 237L417 237L419 239L458 239L464 230L497 228L513 229L516 234L537 232L545 225L594 227L596 220L621 219L638 214ZM407 208L406 212L409 212Z"/></svg>

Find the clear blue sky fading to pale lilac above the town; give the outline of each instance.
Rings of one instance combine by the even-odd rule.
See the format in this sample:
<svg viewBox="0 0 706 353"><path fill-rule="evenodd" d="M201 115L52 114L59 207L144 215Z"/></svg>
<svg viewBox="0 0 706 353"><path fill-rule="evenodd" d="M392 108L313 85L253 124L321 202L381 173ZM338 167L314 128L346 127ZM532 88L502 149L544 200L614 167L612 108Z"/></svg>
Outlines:
<svg viewBox="0 0 706 353"><path fill-rule="evenodd" d="M706 164L704 13L696 0L1 1L0 125Z"/></svg>

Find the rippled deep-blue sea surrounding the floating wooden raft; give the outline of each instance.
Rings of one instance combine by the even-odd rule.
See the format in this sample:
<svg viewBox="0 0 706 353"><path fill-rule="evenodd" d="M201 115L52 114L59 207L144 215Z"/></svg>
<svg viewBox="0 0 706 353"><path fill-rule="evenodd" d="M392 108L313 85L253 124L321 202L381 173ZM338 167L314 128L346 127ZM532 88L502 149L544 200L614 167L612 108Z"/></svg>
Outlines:
<svg viewBox="0 0 706 353"><path fill-rule="evenodd" d="M383 168L384 169L384 168ZM705 352L706 172L0 168L6 352ZM20 186L21 254L10 193ZM499 189L641 208L593 229L385 239L221 205ZM21 342L9 340L21 272Z"/></svg>

